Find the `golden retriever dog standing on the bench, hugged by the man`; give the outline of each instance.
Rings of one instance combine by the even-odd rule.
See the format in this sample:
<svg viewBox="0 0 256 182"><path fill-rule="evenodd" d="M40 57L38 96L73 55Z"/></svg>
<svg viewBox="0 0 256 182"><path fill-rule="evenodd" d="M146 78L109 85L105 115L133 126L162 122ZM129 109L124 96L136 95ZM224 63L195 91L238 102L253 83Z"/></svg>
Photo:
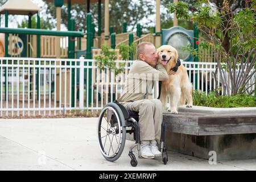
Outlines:
<svg viewBox="0 0 256 182"><path fill-rule="evenodd" d="M157 49L157 53L159 55L159 63L163 64L169 74L177 63L177 50L172 46L164 45ZM168 107L167 111L171 111L172 114L178 113L177 107L185 105L186 99L186 107L192 107L192 90L193 86L189 81L187 69L181 63L175 75L169 75L168 80L162 81L160 101L162 101L164 110L166 110L168 98L170 100L170 107Z"/></svg>

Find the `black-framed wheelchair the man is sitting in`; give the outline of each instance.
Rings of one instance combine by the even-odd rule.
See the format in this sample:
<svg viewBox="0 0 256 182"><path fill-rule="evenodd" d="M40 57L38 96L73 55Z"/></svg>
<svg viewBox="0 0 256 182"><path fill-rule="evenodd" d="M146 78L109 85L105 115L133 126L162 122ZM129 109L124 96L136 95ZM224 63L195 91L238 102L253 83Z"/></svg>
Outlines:
<svg viewBox="0 0 256 182"><path fill-rule="evenodd" d="M159 93L161 82L159 82ZM160 98L160 94L158 99ZM127 129L129 128L129 129ZM162 131L159 144L159 151L162 153L162 161L167 164L168 155L164 145L166 125L162 122ZM125 147L126 134L133 134L135 143L130 147L130 164L135 167L138 164L133 148L137 147L139 158L141 156L141 144L139 136L139 113L126 110L126 108L116 101L110 102L101 110L97 125L97 138L100 145L101 154L110 162L117 160Z"/></svg>

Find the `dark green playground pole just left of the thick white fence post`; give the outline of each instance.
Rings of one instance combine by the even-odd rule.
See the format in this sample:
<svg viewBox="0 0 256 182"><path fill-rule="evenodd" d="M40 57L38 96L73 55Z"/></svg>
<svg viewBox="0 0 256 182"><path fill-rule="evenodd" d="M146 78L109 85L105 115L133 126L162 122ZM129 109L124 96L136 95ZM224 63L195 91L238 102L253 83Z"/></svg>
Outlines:
<svg viewBox="0 0 256 182"><path fill-rule="evenodd" d="M70 30L75 31L75 19L71 18L70 22ZM69 59L75 59L75 37L71 38L71 48L69 49ZM75 65L75 62L72 61L72 65ZM71 69L71 80L72 80L72 86L71 86L71 106L75 107L75 68Z"/></svg>

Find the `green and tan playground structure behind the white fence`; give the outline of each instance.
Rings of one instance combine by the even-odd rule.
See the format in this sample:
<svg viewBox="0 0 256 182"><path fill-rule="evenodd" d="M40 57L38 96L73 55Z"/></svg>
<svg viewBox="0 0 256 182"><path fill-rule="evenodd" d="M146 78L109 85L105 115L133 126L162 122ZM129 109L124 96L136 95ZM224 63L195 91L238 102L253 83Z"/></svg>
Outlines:
<svg viewBox="0 0 256 182"><path fill-rule="evenodd" d="M50 1L50 0L47 0ZM53 2L53 1L51 1ZM9 0L5 5L3 5L0 9L1 14L5 14L5 27L6 28L0 28L0 33L5 34L5 40L3 41L1 39L0 42L0 56L1 53L5 54L5 57L13 56L13 57L47 57L47 58L69 58L69 59L75 59L79 58L80 56L84 55L86 59L93 59L94 55L93 49L95 47L100 48L100 46L104 43L108 46L111 46L113 49L117 49L120 44L126 44L131 45L134 44L136 46L140 42L151 42L155 44L156 47L161 45L161 36L162 39L164 38L164 35L162 34L160 30L160 1L156 0L156 27L155 27L155 33L154 34L142 34L142 27L141 24L137 24L137 30L136 32L127 32L127 23L123 22L123 32L121 34L116 34L113 30L113 27L109 27L109 1L106 0L105 3L105 31L104 34L101 34L101 28L98 29L98 34L96 36L96 32L94 30L94 23L92 23L92 14L89 13L89 5L90 3L98 2L98 16L101 17L101 0L94 0L94 1L87 1L87 31L86 35L83 34L80 31L75 31L75 20L71 18L71 2L72 3L85 3L82 0L77 1L71 1L71 0L55 0L55 6L56 6L56 17L57 17L57 30L60 30L60 18L61 18L61 6L63 6L63 3L68 4L68 31L47 31L47 30L40 30L40 17L39 17L39 7L37 7L34 3L31 2L31 0L26 0L23 2L23 5L26 3L31 5L27 7L31 7L32 10L28 10L27 7L17 6L14 3L14 0ZM13 7L7 6L11 5L15 7L15 10ZM37 30L31 29L31 16L33 14L37 13ZM8 15L9 14L23 14L28 15L28 28L20 29L20 28L7 28L8 27ZM101 27L101 18L99 18L98 27ZM164 31L163 31L164 32ZM110 33L112 33L110 35ZM3 36L3 34L1 35ZM192 35L191 35L192 36ZM194 35L195 36L195 35ZM111 37L111 39L110 39ZM194 40L195 42L195 40ZM163 42L162 42L163 43ZM77 46L76 46L77 45ZM194 43L194 45L196 45ZM8 51L5 51L7 50ZM100 51L98 51L100 52ZM130 60L136 59L136 55L130 54ZM197 59L197 58L195 58ZM59 62L60 63L60 62ZM68 63L69 64L69 63ZM71 63L73 64L73 62ZM88 66L91 66L92 62L89 62ZM92 69L85 70L85 73L89 75L92 75ZM96 73L96 72L94 72ZM72 68L71 71L67 72L67 76L69 77L69 74L71 74L71 80L69 82L72 82L72 89L67 90L67 92L72 92L72 105L75 100L75 86L77 83L75 83L75 71ZM60 70L57 70L57 78L56 82L58 80L60 75ZM6 78L7 79L7 78ZM64 78L61 78L61 80L64 80ZM38 81L38 78L37 78ZM68 81L68 80L67 80ZM6 80L7 84L7 80ZM69 84L69 83L68 83ZM93 84L92 79L89 78L88 80L89 86L89 96L92 94L93 90ZM59 84L57 84L59 85ZM6 86L7 88L7 86ZM61 88L56 88L61 89ZM39 90L38 90L39 92ZM59 92L57 92L59 93ZM89 97L90 98L90 97ZM68 99L69 100L69 99ZM91 101L89 100L89 103Z"/></svg>

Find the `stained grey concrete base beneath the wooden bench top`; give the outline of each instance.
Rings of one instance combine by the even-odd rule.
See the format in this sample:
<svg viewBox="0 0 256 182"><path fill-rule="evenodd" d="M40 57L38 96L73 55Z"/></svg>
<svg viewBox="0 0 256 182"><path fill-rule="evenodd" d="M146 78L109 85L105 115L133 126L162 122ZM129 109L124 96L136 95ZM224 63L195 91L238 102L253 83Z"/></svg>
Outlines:
<svg viewBox="0 0 256 182"><path fill-rule="evenodd" d="M256 134L196 136L166 133L167 150L209 159L216 152L217 161L256 159Z"/></svg>

